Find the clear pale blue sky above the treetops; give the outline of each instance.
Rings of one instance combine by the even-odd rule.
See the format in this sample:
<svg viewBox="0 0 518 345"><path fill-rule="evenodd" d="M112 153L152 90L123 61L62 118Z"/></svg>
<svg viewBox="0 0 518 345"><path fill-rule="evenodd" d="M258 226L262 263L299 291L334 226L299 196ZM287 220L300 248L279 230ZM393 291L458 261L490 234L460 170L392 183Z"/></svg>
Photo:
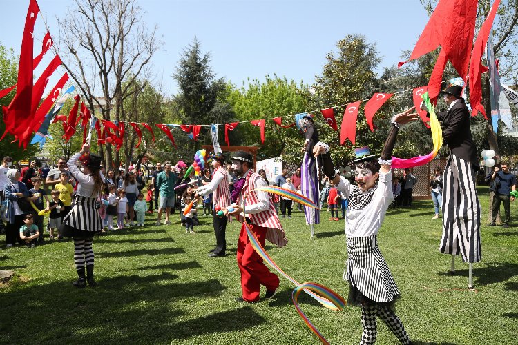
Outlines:
<svg viewBox="0 0 518 345"><path fill-rule="evenodd" d="M0 0L0 44L19 55L29 0ZM58 20L70 0L38 0L42 16L56 40ZM203 53L210 53L216 77L236 86L266 75L286 77L297 83L314 83L326 55L347 34L363 34L375 43L381 64L396 66L403 50L412 50L428 21L419 0L137 0L142 21L157 25L163 41L152 59L155 84L166 96L177 92L173 73L185 48L198 39ZM35 54L44 37L41 17L35 28ZM39 40L39 41L38 41ZM61 55L65 54L61 52ZM46 59L50 61L51 56ZM40 66L45 66L41 63ZM55 73L55 82L63 74ZM59 76L58 76L59 75ZM52 79L48 88L55 84ZM48 90L47 90L48 92Z"/></svg>

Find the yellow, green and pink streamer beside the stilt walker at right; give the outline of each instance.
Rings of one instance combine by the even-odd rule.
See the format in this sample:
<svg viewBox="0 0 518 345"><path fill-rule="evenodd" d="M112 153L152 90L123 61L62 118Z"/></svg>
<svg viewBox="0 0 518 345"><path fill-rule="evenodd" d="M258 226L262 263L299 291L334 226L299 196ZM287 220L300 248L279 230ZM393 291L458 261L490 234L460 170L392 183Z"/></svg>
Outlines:
<svg viewBox="0 0 518 345"><path fill-rule="evenodd" d="M437 153L443 144L443 132L441 130L441 124L439 124L437 115L435 115L434 106L432 106L432 103L430 103L428 92L425 92L421 97L425 102L426 108L428 108L428 111L430 112L430 130L432 130L434 149L432 152L425 156L417 156L409 159L392 157L392 168L394 169L414 168L414 166L423 166L424 164L427 164L429 161L434 159L435 156L437 156Z"/></svg>

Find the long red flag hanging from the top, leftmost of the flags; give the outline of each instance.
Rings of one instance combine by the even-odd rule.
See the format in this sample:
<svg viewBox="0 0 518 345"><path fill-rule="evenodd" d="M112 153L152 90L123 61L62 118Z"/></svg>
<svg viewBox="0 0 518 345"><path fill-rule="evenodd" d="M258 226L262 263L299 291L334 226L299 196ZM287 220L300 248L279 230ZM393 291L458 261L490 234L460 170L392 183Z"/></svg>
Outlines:
<svg viewBox="0 0 518 345"><path fill-rule="evenodd" d="M23 28L23 38L21 40L16 95L8 107L3 107L3 121L6 123L6 132L3 133L0 140L3 139L8 132L12 133L13 129L18 127L19 121L25 121L31 115L32 55L34 53L32 32L34 32L38 12L38 4L35 0L30 0L25 27Z"/></svg>

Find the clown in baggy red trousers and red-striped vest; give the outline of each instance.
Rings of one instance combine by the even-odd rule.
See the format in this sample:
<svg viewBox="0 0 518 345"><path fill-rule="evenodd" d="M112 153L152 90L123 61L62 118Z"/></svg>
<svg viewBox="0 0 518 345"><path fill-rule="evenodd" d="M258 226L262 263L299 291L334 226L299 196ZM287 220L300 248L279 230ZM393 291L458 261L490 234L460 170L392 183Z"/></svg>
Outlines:
<svg viewBox="0 0 518 345"><path fill-rule="evenodd" d="M288 240L268 193L253 191L256 188L266 187L267 183L252 170L252 155L248 152L238 151L231 156L231 160L233 172L236 176L240 176L240 179L234 183L234 190L231 193L232 201L238 206L233 210L225 208L224 213L236 215L238 220L243 223L238 239L238 266L241 272L242 297L236 298L236 301L254 303L260 299L261 285L266 287L265 299L275 296L279 286L279 277L268 270L262 262L262 257L253 249L247 235L246 224L263 247L266 239L276 244L278 248L285 246ZM244 199L246 214L243 214L242 209L244 196L247 196Z"/></svg>

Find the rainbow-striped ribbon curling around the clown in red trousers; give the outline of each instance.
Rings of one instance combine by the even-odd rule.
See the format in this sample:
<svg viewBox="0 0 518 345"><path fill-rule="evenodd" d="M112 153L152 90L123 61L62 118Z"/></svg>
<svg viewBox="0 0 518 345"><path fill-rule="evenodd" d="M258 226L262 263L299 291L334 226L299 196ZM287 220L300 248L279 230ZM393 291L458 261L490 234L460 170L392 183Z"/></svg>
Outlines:
<svg viewBox="0 0 518 345"><path fill-rule="evenodd" d="M265 186L265 187L253 189L249 193L247 193L247 195L244 195L243 203L242 203L243 213L244 213L244 199L247 199L248 195L251 192L253 192L254 190L267 192L267 193L274 193L274 194L280 195L282 197L287 197L287 198L289 198L293 201L296 201L300 204L303 204L305 206L309 206L311 208L318 208L318 206L316 204L314 204L313 201L311 201L310 199L307 199L307 197L304 197L303 195L295 193L293 190L289 190L286 188L280 188L280 187L276 187L276 186ZM295 308L297 309L297 312L300 315L300 317L303 318L305 324L309 327L309 329L311 329L311 331L313 333L315 333L315 335L318 337L318 339L320 339L320 341L323 344L329 344L329 342L327 342L327 340L322 335L322 333L320 333L320 331L318 331L318 328L316 328L316 326L314 326L314 324L312 324L311 321L309 321L309 319L307 318L305 313L300 309L300 306L298 306L298 295L300 295L300 293L302 291L304 291L305 293L307 293L308 295L310 295L311 297L316 299L320 304L325 306L325 308L331 309L332 311L341 311L343 309L343 307L345 306L345 303L346 303L345 300L343 299L343 297L338 295L338 293L335 293L330 288L327 288L326 286L312 283L312 282L305 282L303 284L300 284L295 279L293 279L292 277L287 275L274 262L274 260L271 259L271 257L266 252L265 248L262 248L261 244L259 243L259 240L257 239L256 235L251 231L251 229L249 228L246 221L244 222L244 224L247 228L247 234L248 234L248 237L250 239L250 244L253 247L253 249L256 250L256 252L259 254L259 256L262 257L262 259L265 260L265 262L267 262L267 264L269 264L269 266L271 266L271 268L274 268L274 270L276 270L278 273L280 273L283 277L285 277L290 282L295 284L296 288L291 293L291 300L293 301Z"/></svg>

